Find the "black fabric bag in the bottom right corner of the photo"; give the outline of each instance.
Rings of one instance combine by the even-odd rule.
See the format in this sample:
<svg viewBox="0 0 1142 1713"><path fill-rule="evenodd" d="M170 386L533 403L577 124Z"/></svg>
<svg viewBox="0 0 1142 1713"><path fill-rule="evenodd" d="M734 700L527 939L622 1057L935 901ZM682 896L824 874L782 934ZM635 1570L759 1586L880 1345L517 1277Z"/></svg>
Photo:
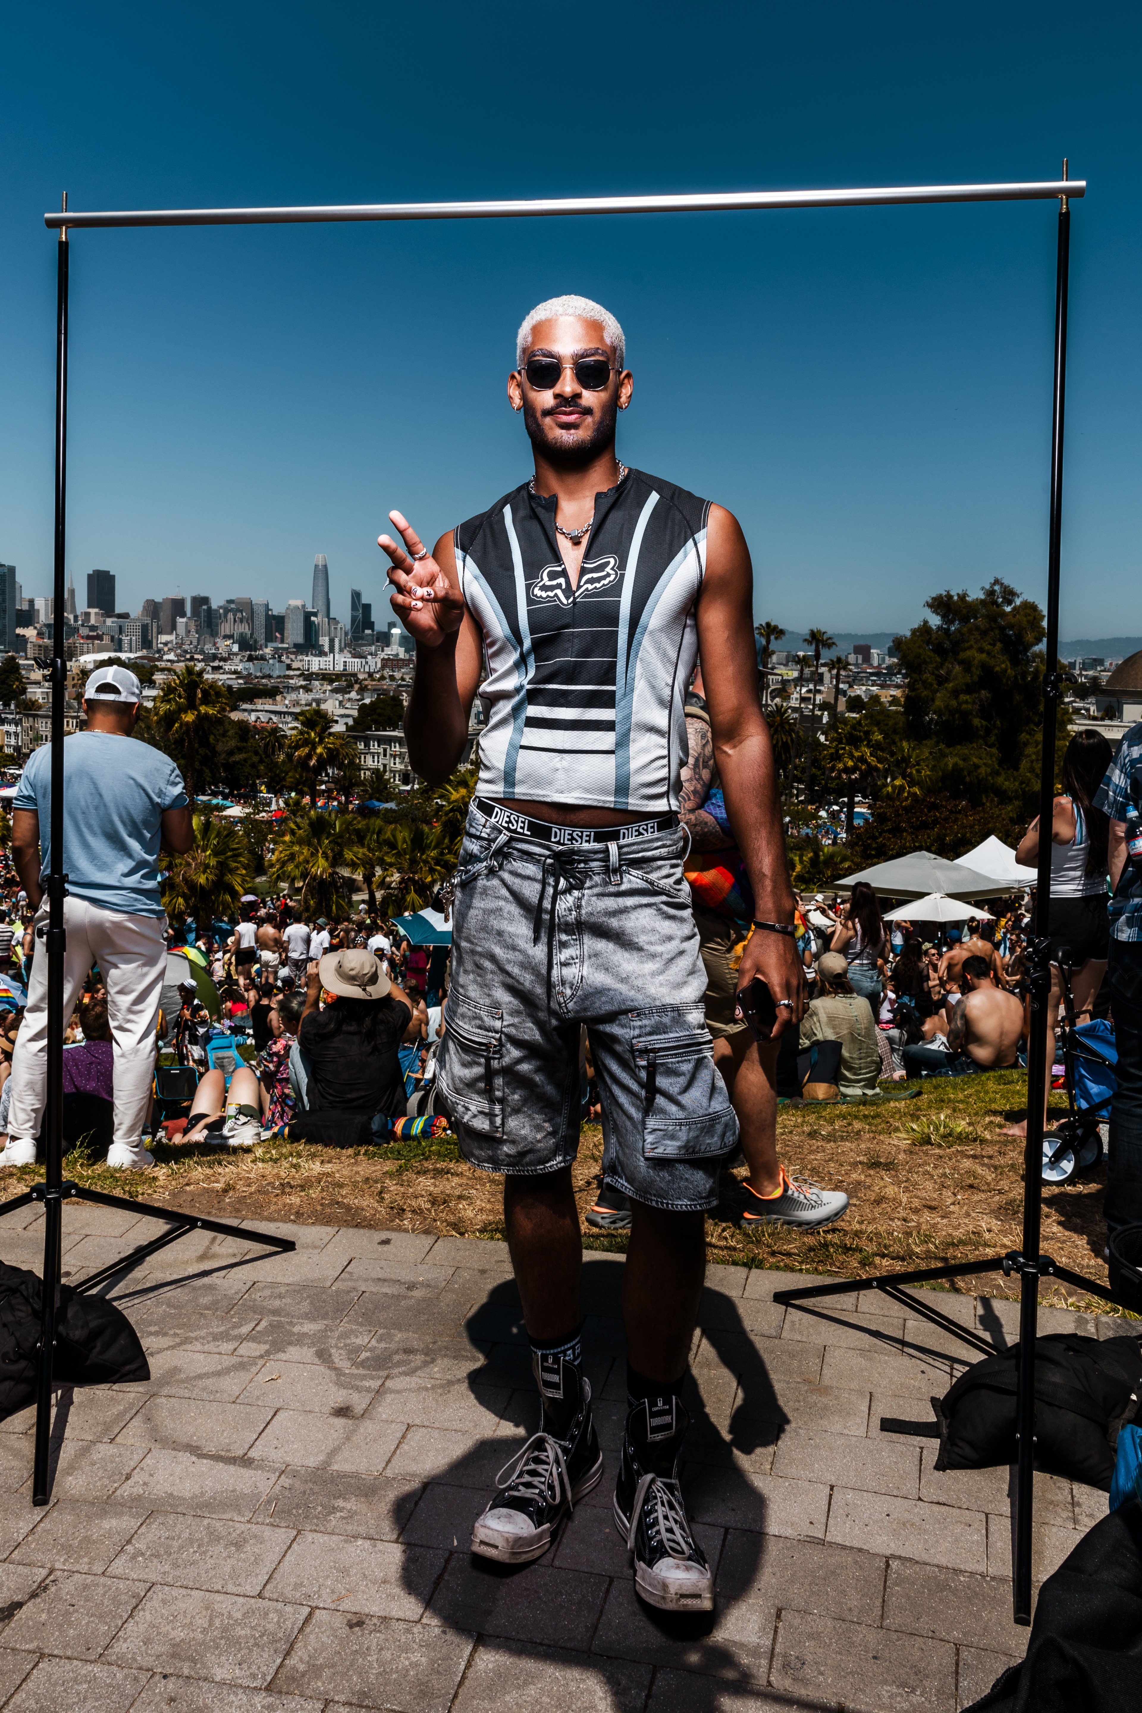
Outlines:
<svg viewBox="0 0 1142 1713"><path fill-rule="evenodd" d="M1137 1713L1140 1686L1142 1504L1127 1499L1048 1576L1027 1656L966 1713Z"/></svg>

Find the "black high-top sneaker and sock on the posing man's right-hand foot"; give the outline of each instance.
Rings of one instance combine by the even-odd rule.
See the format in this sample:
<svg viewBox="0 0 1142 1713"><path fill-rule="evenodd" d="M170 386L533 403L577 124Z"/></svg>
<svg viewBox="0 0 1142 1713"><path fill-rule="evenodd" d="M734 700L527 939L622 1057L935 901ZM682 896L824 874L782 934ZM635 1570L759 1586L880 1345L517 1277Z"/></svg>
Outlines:
<svg viewBox="0 0 1142 1713"><path fill-rule="evenodd" d="M675 1396L644 1398L627 1417L615 1521L635 1555L635 1588L664 1612L712 1612L714 1573L690 1533L678 1454L690 1417Z"/></svg>

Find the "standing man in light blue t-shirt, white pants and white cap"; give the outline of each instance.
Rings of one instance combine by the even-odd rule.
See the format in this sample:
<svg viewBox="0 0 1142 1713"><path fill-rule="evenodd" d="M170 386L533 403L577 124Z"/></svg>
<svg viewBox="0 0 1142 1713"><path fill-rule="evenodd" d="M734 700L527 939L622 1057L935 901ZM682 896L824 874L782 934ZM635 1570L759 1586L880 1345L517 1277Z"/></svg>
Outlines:
<svg viewBox="0 0 1142 1713"><path fill-rule="evenodd" d="M84 689L87 730L63 743L63 1016L92 963L108 990L115 1052L115 1141L110 1167L154 1165L142 1127L154 1077L166 916L159 848L183 853L193 822L178 767L132 737L142 689L127 666L99 666ZM51 862L51 750L38 749L12 802L12 860L36 923L46 922L43 880ZM33 1165L43 1122L48 1060L48 959L33 959L27 1014L12 1053L9 1143L0 1165Z"/></svg>

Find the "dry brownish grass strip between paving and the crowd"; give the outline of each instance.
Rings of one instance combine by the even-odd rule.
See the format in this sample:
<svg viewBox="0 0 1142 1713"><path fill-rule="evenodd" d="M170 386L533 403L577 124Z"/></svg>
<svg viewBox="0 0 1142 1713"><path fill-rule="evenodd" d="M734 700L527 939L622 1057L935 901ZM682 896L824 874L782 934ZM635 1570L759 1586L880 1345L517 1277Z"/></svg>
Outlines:
<svg viewBox="0 0 1142 1713"><path fill-rule="evenodd" d="M877 1105L782 1107L781 1158L851 1197L848 1215L820 1235L786 1227L743 1232L738 1173L726 1173L723 1206L709 1220L712 1261L868 1276L897 1268L971 1261L1022 1242L1022 1143L998 1132L1022 1117L1026 1074L940 1077L919 1100ZM1055 1100L1051 1110L1063 1115ZM603 1156L598 1127L584 1127L574 1182L580 1211L594 1199ZM310 1225L385 1227L457 1237L503 1237L500 1179L474 1172L452 1141L332 1149L264 1143L253 1149L156 1146L156 1170L108 1172L68 1155L65 1172L80 1184L144 1197L223 1220L291 1220ZM7 1173L7 1194L33 1184L41 1168ZM1043 1250L1106 1283L1103 1247L1104 1172L1074 1189L1044 1191ZM65 1213L67 1218L67 1213ZM592 1232L592 1249L625 1249L625 1237ZM961 1288L1017 1295L1002 1273L969 1278ZM1044 1286L1044 1300L1077 1297ZM1096 1307L1085 1298L1084 1307Z"/></svg>

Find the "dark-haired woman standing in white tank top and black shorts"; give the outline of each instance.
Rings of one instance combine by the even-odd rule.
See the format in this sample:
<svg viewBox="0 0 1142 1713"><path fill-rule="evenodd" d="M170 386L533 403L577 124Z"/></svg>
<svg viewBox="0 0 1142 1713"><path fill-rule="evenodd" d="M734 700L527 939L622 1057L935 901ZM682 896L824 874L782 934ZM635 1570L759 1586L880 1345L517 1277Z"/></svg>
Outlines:
<svg viewBox="0 0 1142 1713"><path fill-rule="evenodd" d="M1113 750L1101 731L1089 726L1077 731L1063 755L1063 791L1055 798L1051 815L1051 999L1048 1006L1048 1045L1053 1047L1058 1007L1063 997L1060 963L1072 971L1070 990L1075 1018L1084 1023L1092 1014L1097 990L1106 975L1109 923L1106 916L1106 846L1109 822L1094 809L1094 793L1111 764ZM1027 827L1015 862L1034 868L1039 862L1039 817ZM1065 958L1060 958L1065 954ZM1053 1053L1051 1053L1053 1057ZM1050 1083L1048 1083L1050 1089ZM1024 1136L1026 1124L1008 1125L1005 1136Z"/></svg>

